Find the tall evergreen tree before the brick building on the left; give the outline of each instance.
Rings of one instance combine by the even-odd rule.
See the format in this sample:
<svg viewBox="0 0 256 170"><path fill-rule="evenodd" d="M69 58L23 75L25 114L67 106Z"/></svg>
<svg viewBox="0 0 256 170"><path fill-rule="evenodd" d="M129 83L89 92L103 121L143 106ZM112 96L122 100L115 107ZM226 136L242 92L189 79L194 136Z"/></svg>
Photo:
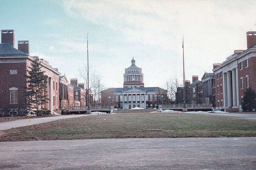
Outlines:
<svg viewBox="0 0 256 170"><path fill-rule="evenodd" d="M46 76L40 66L40 61L37 57L32 61L30 69L27 70L27 87L25 96L27 97L27 108L30 110L36 110L37 115L42 115L47 112L46 109L41 109L40 106L48 103L47 95L44 94L46 86ZM49 111L48 111L49 112Z"/></svg>

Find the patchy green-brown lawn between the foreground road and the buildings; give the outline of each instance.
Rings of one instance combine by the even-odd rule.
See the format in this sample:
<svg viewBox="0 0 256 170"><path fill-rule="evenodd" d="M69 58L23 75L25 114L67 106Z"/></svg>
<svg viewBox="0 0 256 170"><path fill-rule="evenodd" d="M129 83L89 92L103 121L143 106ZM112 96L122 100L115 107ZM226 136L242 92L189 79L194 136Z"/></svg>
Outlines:
<svg viewBox="0 0 256 170"><path fill-rule="evenodd" d="M1 134L1 142L98 138L256 137L256 121L186 113L107 114L13 128L2 131Z"/></svg>

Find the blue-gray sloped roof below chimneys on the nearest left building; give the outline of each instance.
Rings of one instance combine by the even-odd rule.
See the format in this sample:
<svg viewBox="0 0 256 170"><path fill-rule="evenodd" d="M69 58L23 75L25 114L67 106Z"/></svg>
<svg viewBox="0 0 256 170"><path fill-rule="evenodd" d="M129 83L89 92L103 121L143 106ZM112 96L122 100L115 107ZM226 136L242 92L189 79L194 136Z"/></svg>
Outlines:
<svg viewBox="0 0 256 170"><path fill-rule="evenodd" d="M0 55L27 55L27 54L20 50L17 50L9 43L1 43Z"/></svg>

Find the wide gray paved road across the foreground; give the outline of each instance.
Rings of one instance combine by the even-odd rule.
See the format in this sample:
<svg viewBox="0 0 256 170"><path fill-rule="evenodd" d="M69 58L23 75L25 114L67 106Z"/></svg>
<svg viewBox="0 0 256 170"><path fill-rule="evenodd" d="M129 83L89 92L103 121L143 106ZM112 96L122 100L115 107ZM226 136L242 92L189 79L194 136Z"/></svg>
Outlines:
<svg viewBox="0 0 256 170"><path fill-rule="evenodd" d="M255 170L256 138L0 142L2 170Z"/></svg>

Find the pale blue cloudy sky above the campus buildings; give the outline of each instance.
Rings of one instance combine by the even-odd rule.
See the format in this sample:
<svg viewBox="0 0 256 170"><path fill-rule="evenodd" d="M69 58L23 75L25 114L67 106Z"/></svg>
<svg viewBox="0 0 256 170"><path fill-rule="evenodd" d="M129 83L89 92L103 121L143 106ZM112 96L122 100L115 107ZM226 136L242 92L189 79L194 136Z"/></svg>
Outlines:
<svg viewBox="0 0 256 170"><path fill-rule="evenodd" d="M105 88L123 87L124 69L142 68L145 87L201 80L234 50L245 50L256 31L255 0L1 0L0 29L14 29L62 75L84 80L80 70L102 77ZM88 34L87 34L88 33Z"/></svg>

